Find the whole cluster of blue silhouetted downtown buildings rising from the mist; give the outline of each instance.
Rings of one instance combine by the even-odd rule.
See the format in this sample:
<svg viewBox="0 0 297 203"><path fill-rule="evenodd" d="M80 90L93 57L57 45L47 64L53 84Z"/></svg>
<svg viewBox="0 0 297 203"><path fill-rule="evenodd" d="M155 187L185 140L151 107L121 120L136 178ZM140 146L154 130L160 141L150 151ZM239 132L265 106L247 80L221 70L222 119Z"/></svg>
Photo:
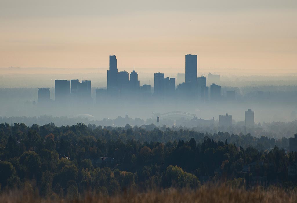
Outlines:
<svg viewBox="0 0 297 203"><path fill-rule="evenodd" d="M115 55L109 56L109 70L107 70L107 88L96 90L96 104L105 104L119 99L133 101L147 101L149 99L194 99L200 102L219 101L222 99L221 86L215 83L206 85L206 77L197 77L197 55L186 55L185 74L182 83L177 85L176 78L165 77L164 73L154 74L154 88L151 85L140 86L138 73L133 70L118 71ZM208 74L208 80L219 82L219 75ZM227 99L234 100L235 92L227 91ZM49 88L38 89L38 103L50 101ZM93 105L91 98L91 80L55 80L55 103L59 105Z"/></svg>

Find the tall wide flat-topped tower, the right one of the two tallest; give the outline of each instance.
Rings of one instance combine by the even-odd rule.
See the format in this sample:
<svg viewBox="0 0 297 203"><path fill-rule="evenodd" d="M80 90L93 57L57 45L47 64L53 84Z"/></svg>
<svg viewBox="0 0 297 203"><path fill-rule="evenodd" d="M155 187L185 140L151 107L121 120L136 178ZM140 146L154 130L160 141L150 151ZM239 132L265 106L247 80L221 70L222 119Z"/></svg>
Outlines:
<svg viewBox="0 0 297 203"><path fill-rule="evenodd" d="M185 83L192 83L196 85L197 81L197 55L186 55L186 81Z"/></svg>

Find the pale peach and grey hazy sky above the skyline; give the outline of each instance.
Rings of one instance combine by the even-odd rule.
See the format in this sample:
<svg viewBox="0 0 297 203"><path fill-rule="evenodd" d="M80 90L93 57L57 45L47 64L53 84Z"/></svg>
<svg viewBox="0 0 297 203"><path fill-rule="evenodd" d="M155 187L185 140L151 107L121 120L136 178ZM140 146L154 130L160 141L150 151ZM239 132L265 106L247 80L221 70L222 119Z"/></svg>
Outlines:
<svg viewBox="0 0 297 203"><path fill-rule="evenodd" d="M0 0L0 67L297 73L296 0Z"/></svg>

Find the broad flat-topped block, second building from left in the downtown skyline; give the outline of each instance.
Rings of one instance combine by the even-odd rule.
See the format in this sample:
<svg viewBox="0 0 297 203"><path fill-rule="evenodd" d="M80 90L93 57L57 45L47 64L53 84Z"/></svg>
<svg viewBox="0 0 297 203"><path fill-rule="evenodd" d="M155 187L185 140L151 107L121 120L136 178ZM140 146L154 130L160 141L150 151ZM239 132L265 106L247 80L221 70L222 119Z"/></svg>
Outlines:
<svg viewBox="0 0 297 203"><path fill-rule="evenodd" d="M70 80L55 80L55 101L68 104L70 95Z"/></svg>

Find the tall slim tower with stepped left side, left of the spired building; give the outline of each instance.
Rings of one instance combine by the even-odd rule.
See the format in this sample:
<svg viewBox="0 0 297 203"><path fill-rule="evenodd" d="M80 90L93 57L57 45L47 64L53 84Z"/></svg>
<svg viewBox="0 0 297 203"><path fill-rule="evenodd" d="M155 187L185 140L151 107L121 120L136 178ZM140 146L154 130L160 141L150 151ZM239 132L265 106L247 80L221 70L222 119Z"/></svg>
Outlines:
<svg viewBox="0 0 297 203"><path fill-rule="evenodd" d="M107 94L109 96L118 96L117 75L117 59L115 55L112 55L109 56L109 70L107 71Z"/></svg>

